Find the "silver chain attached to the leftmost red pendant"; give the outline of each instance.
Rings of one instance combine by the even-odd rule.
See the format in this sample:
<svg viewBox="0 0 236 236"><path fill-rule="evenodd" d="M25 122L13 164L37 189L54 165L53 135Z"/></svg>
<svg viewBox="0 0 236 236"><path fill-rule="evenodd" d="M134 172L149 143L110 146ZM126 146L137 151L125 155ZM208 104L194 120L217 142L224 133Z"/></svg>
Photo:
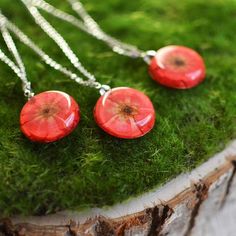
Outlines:
<svg viewBox="0 0 236 236"><path fill-rule="evenodd" d="M34 96L34 93L31 89L31 84L27 79L24 63L8 31L7 19L1 14L1 12L0 12L0 30L3 39L7 45L7 48L15 58L16 63L13 62L1 49L0 49L0 60L2 60L5 64L7 64L20 78L20 80L22 81L22 89L24 91L24 95L28 99L30 99L31 97Z"/></svg>

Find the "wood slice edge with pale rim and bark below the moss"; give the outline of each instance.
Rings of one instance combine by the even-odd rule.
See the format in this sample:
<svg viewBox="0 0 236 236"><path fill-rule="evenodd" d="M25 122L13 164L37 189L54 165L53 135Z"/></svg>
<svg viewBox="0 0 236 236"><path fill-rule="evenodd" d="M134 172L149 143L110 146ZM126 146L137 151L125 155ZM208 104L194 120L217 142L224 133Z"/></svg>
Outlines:
<svg viewBox="0 0 236 236"><path fill-rule="evenodd" d="M193 172L111 209L2 218L0 236L235 236L235 156L234 142Z"/></svg>

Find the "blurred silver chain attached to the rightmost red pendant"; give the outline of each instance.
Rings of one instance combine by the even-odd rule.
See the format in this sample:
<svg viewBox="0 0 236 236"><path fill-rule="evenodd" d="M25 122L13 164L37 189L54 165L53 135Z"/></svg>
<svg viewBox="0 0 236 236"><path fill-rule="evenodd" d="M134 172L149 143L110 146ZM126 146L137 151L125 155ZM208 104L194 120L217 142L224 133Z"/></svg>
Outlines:
<svg viewBox="0 0 236 236"><path fill-rule="evenodd" d="M155 55L155 51L142 51L137 47L123 43L116 38L106 34L97 22L88 14L88 12L83 7L82 3L78 0L67 0L70 4L72 9L78 14L78 16L82 19L79 20L71 14L61 11L56 7L50 5L49 3L45 2L44 0L22 0L28 7L34 6L36 8L42 9L47 13L63 20L66 22L71 23L72 25L76 26L77 28L85 31L86 33L92 35L93 37L97 38L105 42L112 50L118 54L129 56L132 58L143 58L145 62L149 63L150 58Z"/></svg>

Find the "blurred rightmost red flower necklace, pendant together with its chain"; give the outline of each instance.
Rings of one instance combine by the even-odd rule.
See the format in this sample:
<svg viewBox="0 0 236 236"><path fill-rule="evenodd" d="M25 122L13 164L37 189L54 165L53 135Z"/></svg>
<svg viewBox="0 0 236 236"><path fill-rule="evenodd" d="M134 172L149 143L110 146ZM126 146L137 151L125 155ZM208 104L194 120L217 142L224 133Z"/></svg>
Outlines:
<svg viewBox="0 0 236 236"><path fill-rule="evenodd" d="M205 78L205 64L196 51L184 46L171 45L161 48L157 52L153 50L145 52L132 45L125 44L106 34L78 0L67 1L82 20L55 8L44 0L22 1L28 8L34 6L73 24L98 40L105 42L118 54L131 58L143 58L149 64L148 71L152 79L164 86L189 89L197 86Z"/></svg>

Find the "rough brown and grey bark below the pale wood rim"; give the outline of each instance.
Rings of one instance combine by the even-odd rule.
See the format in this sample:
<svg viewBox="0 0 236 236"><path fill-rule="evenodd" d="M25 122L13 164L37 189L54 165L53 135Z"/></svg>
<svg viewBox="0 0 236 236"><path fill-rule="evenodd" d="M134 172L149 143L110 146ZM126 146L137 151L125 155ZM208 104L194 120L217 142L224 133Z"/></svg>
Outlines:
<svg viewBox="0 0 236 236"><path fill-rule="evenodd" d="M100 215L81 223L68 218L67 224L51 225L46 220L33 224L1 219L0 236L234 236L235 222L236 161L227 156L204 178L143 211L118 218Z"/></svg>

